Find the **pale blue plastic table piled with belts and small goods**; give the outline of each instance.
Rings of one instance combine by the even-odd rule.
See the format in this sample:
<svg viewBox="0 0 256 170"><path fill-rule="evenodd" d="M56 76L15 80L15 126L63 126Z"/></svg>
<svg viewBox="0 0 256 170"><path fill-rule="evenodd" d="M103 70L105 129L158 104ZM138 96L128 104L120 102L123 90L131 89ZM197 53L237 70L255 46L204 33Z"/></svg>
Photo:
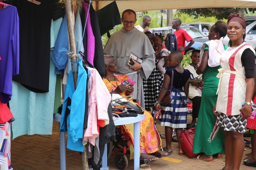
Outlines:
<svg viewBox="0 0 256 170"><path fill-rule="evenodd" d="M59 122L61 114L54 114L53 119ZM137 117L125 117L114 120L115 126L123 124L134 123L134 170L140 169L140 121L144 119L144 115L138 115ZM65 143L65 133L61 132L59 134L59 147L60 147L60 170L66 170L66 143ZM102 168L101 170L109 170L108 167L108 156L107 156L107 146L105 144L105 150L102 157Z"/></svg>

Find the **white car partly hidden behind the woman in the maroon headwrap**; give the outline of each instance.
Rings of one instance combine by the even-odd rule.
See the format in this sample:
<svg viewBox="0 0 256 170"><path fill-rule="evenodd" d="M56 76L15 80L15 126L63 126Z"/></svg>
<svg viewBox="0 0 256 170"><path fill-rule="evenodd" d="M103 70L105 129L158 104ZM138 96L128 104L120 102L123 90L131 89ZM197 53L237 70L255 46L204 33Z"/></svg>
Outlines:
<svg viewBox="0 0 256 170"><path fill-rule="evenodd" d="M245 42L250 44L256 50L256 16L244 17L246 21L246 36ZM223 44L228 46L229 38L225 36L223 38Z"/></svg>

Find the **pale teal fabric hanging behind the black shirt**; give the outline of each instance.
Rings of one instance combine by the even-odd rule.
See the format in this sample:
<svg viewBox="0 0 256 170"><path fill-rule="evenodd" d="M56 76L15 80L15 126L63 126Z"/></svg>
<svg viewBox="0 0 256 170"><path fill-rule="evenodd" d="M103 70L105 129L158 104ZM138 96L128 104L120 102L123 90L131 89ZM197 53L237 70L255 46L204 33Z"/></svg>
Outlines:
<svg viewBox="0 0 256 170"><path fill-rule="evenodd" d="M15 118L12 123L13 139L26 134L52 134L56 74L51 56L49 60L49 92L35 93L12 81L13 96L9 104Z"/></svg>

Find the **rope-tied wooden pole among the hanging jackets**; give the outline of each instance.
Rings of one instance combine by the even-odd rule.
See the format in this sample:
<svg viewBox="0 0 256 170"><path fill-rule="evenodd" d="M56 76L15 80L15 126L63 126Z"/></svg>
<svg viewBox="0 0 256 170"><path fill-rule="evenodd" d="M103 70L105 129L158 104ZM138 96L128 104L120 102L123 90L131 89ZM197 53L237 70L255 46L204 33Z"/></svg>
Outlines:
<svg viewBox="0 0 256 170"><path fill-rule="evenodd" d="M73 21L72 21L71 1L70 0L65 0L65 7L66 7L66 14L67 14L70 52L74 53L70 57L71 57L71 59L76 59L76 57L75 57L76 56L75 35L74 35L74 27L73 27ZM73 72L73 78L74 78L74 87L76 89L77 72ZM88 170L89 166L88 166L86 147L84 147L84 152L82 153L82 162L83 162L83 169Z"/></svg>

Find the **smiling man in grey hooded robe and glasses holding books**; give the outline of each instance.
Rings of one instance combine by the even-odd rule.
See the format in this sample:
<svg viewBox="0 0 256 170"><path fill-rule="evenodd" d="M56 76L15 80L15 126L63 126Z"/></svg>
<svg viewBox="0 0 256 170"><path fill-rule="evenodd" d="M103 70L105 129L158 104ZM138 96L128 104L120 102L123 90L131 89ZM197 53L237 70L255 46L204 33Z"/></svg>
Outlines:
<svg viewBox="0 0 256 170"><path fill-rule="evenodd" d="M142 78L147 80L155 67L155 51L148 37L134 27L136 13L133 10L125 10L121 21L123 28L111 35L104 48L104 54L114 57L117 64L117 74L127 74L130 79L136 82L133 85L133 99L138 99L144 108L144 91ZM130 54L142 60L139 64L135 61L133 66L127 65Z"/></svg>

